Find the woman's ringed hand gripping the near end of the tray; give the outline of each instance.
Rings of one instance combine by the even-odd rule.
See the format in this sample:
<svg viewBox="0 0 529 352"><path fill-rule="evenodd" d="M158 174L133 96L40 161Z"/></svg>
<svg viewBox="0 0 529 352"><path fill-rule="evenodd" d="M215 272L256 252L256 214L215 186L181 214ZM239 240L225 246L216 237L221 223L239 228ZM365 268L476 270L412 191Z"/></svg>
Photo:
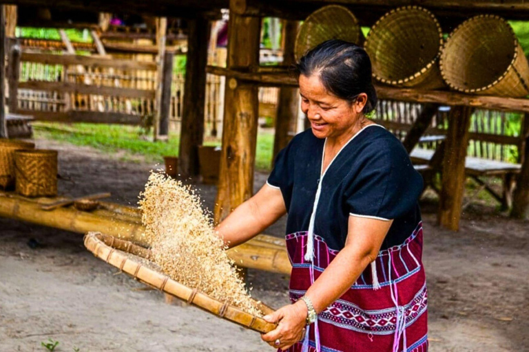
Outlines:
<svg viewBox="0 0 529 352"><path fill-rule="evenodd" d="M262 334L262 340L271 347L285 351L304 338L307 305L302 300L298 300L293 305L286 305L263 318L267 322L278 322L278 327ZM279 343L276 344L278 341Z"/></svg>

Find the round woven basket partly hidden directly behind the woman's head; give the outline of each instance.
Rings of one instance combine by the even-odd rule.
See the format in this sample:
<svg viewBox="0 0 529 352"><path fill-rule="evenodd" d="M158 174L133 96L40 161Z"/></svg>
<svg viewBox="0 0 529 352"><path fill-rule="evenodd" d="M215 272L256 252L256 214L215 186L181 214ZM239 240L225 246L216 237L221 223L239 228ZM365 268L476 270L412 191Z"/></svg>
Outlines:
<svg viewBox="0 0 529 352"><path fill-rule="evenodd" d="M295 61L329 39L342 39L357 45L362 45L364 41L355 15L343 6L328 5L309 14L295 38Z"/></svg>

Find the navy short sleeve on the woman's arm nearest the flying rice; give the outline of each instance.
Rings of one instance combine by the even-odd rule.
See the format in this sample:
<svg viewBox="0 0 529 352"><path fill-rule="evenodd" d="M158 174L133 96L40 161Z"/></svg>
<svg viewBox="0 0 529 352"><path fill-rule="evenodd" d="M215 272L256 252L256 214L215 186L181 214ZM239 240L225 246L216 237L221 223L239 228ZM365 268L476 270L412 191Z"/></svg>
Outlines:
<svg viewBox="0 0 529 352"><path fill-rule="evenodd" d="M270 173L267 184L272 188L281 190L287 209L292 195L293 177L294 177L294 155L293 140L283 148L273 162L273 169Z"/></svg>

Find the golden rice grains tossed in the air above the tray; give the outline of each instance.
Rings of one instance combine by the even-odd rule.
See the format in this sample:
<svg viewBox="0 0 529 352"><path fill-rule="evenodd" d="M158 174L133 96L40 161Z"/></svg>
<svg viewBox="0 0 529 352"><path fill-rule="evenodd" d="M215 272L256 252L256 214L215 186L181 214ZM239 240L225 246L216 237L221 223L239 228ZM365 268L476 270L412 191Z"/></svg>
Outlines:
<svg viewBox="0 0 529 352"><path fill-rule="evenodd" d="M187 287L262 316L258 302L245 289L227 247L217 236L211 217L190 186L152 173L140 195L145 236L152 260L170 278Z"/></svg>

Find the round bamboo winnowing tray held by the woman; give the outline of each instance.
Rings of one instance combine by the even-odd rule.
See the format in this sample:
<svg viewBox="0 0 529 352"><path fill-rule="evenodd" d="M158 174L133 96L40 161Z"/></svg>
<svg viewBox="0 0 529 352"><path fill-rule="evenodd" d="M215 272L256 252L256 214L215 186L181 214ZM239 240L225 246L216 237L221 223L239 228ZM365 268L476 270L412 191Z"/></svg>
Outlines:
<svg viewBox="0 0 529 352"><path fill-rule="evenodd" d="M160 272L156 264L149 261L151 252L147 248L135 245L129 241L116 239L114 236L101 234L101 232L88 232L85 235L84 242L85 247L94 253L96 257L114 267L118 267L119 270L129 274L141 283L185 300L189 304L196 305L220 318L235 322L248 329L260 333L267 333L276 329L275 324L271 324L258 316L248 314L236 307L227 305L227 303L222 303L202 292L198 292L197 289L192 289L172 280L169 276ZM273 311L273 309L262 304L259 308L264 314L270 314Z"/></svg>

